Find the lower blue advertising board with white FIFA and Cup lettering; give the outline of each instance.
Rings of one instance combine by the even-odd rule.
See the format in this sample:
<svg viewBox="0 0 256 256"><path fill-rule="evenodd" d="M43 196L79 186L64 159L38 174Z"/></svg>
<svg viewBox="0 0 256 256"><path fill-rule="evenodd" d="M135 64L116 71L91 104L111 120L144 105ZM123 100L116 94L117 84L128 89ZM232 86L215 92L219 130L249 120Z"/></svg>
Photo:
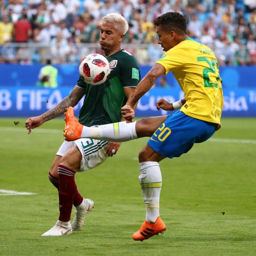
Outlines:
<svg viewBox="0 0 256 256"><path fill-rule="evenodd" d="M0 117L38 116L52 109L70 94L72 88L37 89L31 87L0 87ZM256 117L256 89L226 89L224 93L223 117ZM156 109L156 101L165 98L170 102L183 98L179 89L151 89L139 101L136 116L158 116L168 114ZM76 106L76 116L83 99Z"/></svg>

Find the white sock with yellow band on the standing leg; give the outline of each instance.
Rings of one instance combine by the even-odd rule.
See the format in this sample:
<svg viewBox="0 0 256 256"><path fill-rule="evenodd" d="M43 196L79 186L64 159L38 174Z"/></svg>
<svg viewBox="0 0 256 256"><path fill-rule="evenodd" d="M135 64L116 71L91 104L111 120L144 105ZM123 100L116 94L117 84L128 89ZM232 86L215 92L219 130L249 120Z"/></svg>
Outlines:
<svg viewBox="0 0 256 256"><path fill-rule="evenodd" d="M140 186L146 205L146 221L154 223L159 216L162 187L162 175L158 162L140 163L140 173Z"/></svg>

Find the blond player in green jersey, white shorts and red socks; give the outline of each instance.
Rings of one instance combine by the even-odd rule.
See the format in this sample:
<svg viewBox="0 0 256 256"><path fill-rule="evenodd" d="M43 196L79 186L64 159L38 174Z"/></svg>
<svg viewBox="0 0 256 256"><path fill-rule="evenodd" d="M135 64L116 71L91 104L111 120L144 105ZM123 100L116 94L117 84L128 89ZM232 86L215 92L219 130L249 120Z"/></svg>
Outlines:
<svg viewBox="0 0 256 256"><path fill-rule="evenodd" d="M69 106L75 106L84 95L86 96L79 113L81 124L94 126L125 120L121 117L120 109L131 98L140 81L135 57L121 48L128 27L120 14L111 13L103 17L99 43L111 65L109 79L99 86L91 86L79 77L70 95L55 108L26 121L29 134L42 123L64 114ZM107 157L112 157L117 153L120 144L88 138L63 142L49 173L50 181L58 189L60 215L54 227L42 236L61 236L82 228L94 202L79 194L75 173L94 168ZM76 207L76 214L71 225L72 205Z"/></svg>

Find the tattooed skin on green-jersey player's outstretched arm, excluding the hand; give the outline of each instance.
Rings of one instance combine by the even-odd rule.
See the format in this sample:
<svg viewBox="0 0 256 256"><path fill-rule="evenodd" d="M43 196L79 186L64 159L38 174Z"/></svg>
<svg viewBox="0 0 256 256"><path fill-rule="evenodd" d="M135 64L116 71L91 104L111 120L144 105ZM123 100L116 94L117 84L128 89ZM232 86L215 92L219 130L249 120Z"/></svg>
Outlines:
<svg viewBox="0 0 256 256"><path fill-rule="evenodd" d="M44 121L46 122L54 119L55 117L63 115L67 108L69 106L75 106L84 94L85 90L81 88L72 91L68 97L61 100L53 109L42 114L42 118L44 118Z"/></svg>

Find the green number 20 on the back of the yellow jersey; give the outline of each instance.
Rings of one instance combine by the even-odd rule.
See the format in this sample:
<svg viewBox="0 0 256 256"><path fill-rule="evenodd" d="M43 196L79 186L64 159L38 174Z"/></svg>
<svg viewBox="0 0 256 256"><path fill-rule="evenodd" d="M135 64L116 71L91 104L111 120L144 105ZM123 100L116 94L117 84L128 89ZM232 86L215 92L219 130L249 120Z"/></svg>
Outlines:
<svg viewBox="0 0 256 256"><path fill-rule="evenodd" d="M198 57L197 61L206 61L209 65L209 68L205 68L203 70L203 78L204 78L204 87L215 87L218 88L218 80L220 79L220 76L216 78L216 82L210 82L209 74L208 73L216 73L216 69L219 72L219 63L215 59L207 59L206 57ZM216 69L215 69L216 65Z"/></svg>

